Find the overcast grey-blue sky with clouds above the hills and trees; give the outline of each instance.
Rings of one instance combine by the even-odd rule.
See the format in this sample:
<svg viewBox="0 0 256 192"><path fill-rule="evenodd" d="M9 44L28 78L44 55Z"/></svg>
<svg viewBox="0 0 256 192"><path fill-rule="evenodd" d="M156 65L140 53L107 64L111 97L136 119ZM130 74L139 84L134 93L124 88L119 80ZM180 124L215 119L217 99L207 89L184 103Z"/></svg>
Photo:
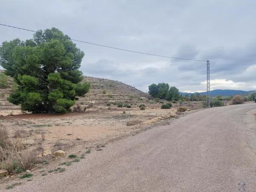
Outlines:
<svg viewBox="0 0 256 192"><path fill-rule="evenodd" d="M0 23L56 27L73 39L138 52L210 61L211 90L256 90L255 0L0 0ZM33 33L0 26L0 43ZM76 42L86 76L144 92L166 82L206 90L206 62L162 58Z"/></svg>

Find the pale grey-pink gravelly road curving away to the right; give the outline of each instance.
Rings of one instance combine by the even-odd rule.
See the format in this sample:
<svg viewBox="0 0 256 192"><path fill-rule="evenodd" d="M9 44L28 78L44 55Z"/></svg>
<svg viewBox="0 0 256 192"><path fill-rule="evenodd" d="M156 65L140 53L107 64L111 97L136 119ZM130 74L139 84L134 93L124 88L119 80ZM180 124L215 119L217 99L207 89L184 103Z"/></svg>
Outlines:
<svg viewBox="0 0 256 192"><path fill-rule="evenodd" d="M14 191L256 191L255 103L211 108L93 151Z"/></svg>

